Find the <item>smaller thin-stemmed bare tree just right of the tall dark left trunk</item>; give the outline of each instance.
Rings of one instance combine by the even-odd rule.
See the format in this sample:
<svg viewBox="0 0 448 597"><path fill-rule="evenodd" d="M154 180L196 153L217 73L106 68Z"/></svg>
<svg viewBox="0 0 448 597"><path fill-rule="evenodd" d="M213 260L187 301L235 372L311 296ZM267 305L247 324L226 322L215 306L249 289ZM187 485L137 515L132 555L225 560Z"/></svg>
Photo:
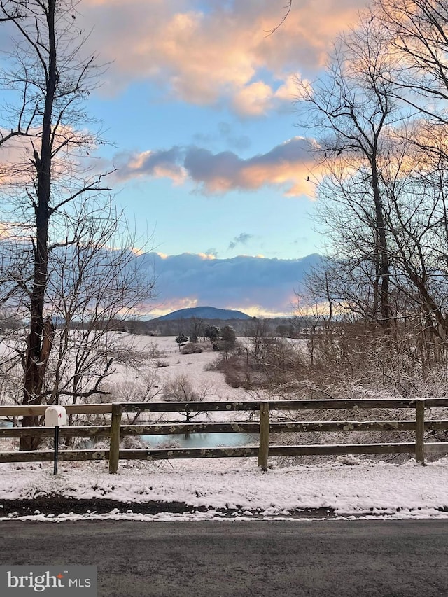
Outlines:
<svg viewBox="0 0 448 597"><path fill-rule="evenodd" d="M50 259L48 309L58 329L45 391L49 402L99 394L115 363L133 365L148 358L129 340L124 346L114 332L151 299L151 270L140 267L129 248L133 240L124 236L127 227L110 201L97 211L91 205L88 213L84 210L80 206L74 218L76 243L53 251ZM113 248L120 245L124 248Z"/></svg>

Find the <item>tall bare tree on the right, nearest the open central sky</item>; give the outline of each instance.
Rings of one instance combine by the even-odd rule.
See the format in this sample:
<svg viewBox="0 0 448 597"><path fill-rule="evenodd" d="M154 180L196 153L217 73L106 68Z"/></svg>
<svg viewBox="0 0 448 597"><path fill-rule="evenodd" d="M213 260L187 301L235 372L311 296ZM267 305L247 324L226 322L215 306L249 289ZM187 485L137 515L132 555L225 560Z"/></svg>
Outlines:
<svg viewBox="0 0 448 597"><path fill-rule="evenodd" d="M393 84L385 76L391 69L386 42L376 22L361 20L358 29L339 37L325 77L311 86L299 83L305 102L299 106L307 106L302 122L318 134L319 218L332 241L334 280L345 293L341 302L362 308L389 333L391 251L381 169L397 111ZM357 281L362 278L361 296Z"/></svg>

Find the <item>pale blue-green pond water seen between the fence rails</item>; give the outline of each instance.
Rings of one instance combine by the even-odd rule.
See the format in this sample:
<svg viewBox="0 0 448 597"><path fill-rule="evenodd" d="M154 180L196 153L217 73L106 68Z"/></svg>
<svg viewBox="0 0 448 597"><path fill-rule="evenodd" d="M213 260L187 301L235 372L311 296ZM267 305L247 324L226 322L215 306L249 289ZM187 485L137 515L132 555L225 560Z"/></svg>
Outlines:
<svg viewBox="0 0 448 597"><path fill-rule="evenodd" d="M179 448L220 448L258 446L258 433L190 433L179 435L142 435L151 448L164 446Z"/></svg>

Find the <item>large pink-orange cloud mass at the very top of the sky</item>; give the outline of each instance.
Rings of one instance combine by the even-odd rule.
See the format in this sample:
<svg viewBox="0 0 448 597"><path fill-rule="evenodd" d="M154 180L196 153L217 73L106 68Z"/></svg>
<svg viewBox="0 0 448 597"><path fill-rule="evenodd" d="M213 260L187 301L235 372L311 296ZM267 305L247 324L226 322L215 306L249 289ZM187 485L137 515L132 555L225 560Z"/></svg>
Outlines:
<svg viewBox="0 0 448 597"><path fill-rule="evenodd" d="M210 0L208 10L195 9L193 0L85 0L83 19L87 29L94 24L92 49L111 62L104 92L149 78L176 99L210 105L224 98L241 115L259 116L293 99L290 73L322 66L332 38L365 3L295 1L271 36L266 31L284 13L281 0L231 6Z"/></svg>

